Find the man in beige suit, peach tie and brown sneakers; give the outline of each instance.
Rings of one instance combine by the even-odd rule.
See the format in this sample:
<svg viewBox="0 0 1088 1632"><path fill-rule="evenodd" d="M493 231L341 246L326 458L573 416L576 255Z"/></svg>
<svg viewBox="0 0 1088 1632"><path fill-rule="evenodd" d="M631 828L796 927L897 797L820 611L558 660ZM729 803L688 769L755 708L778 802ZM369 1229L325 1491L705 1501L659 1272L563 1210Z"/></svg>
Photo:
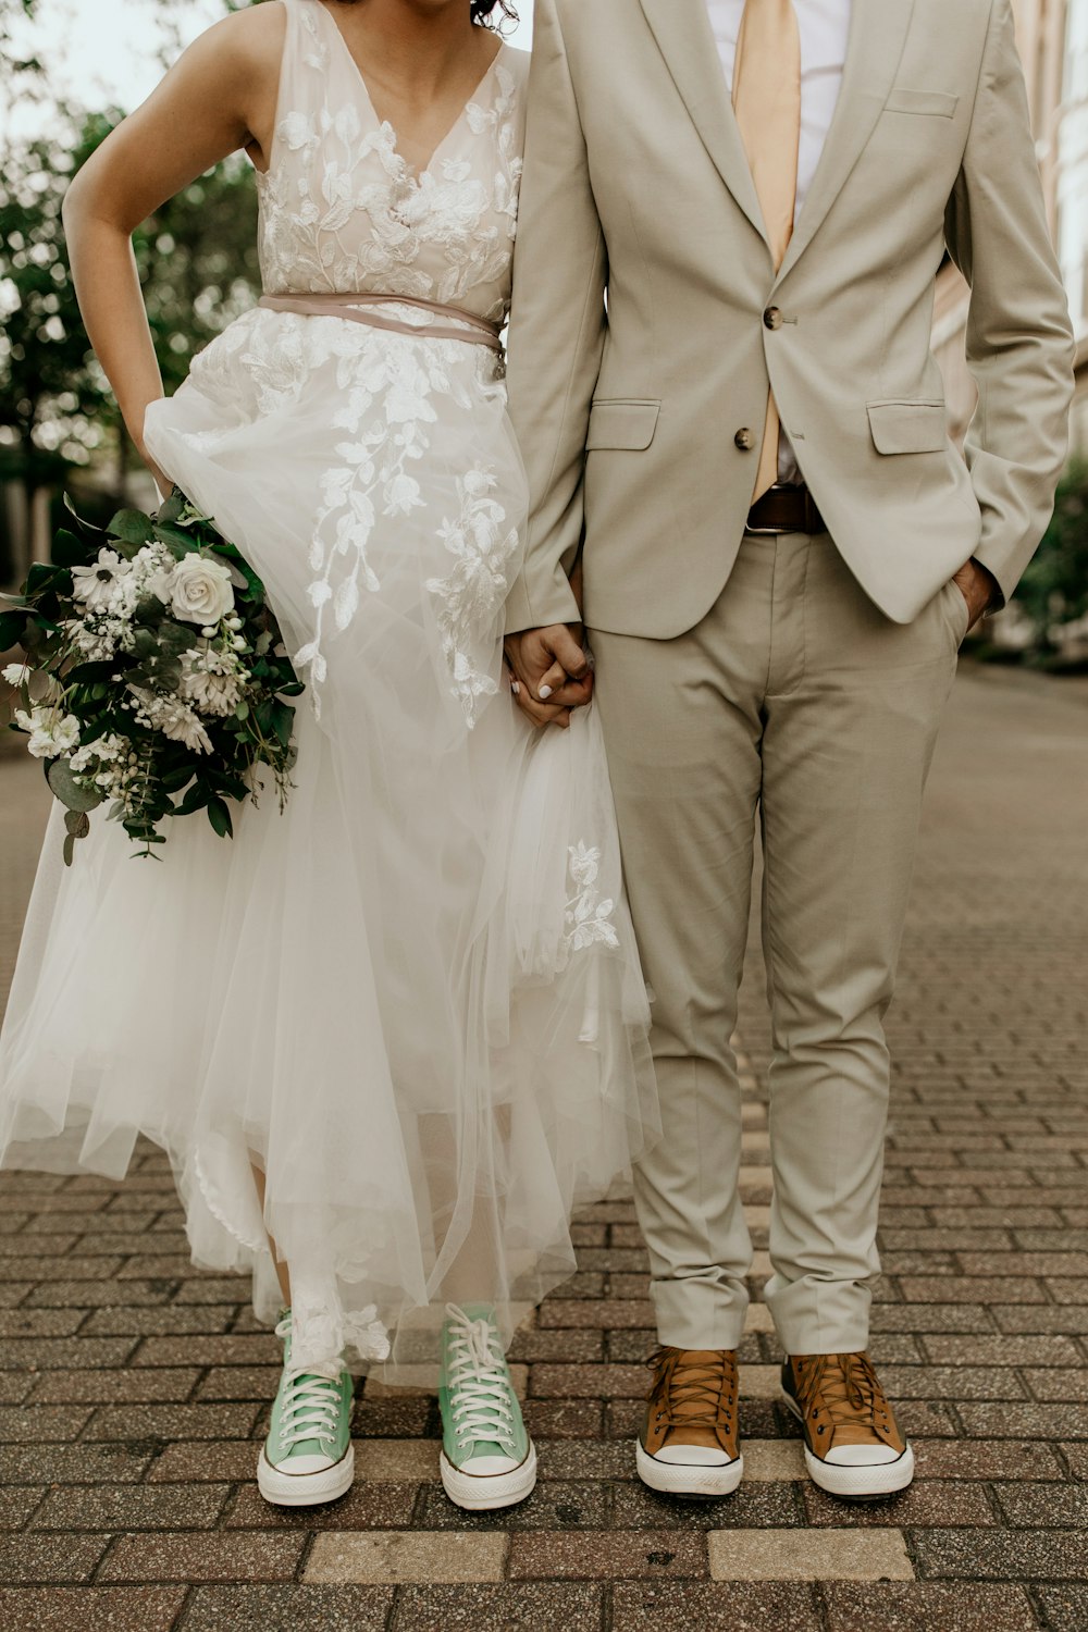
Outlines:
<svg viewBox="0 0 1088 1632"><path fill-rule="evenodd" d="M638 1172L657 1490L736 1488L750 1242L729 1038L755 821L773 1276L811 1477L912 1479L866 1355L887 1010L956 651L1050 514L1072 344L1008 0L537 0L509 390L519 700L589 697L664 1139ZM966 463L930 351L971 284ZM964 857L964 865L971 858Z"/></svg>

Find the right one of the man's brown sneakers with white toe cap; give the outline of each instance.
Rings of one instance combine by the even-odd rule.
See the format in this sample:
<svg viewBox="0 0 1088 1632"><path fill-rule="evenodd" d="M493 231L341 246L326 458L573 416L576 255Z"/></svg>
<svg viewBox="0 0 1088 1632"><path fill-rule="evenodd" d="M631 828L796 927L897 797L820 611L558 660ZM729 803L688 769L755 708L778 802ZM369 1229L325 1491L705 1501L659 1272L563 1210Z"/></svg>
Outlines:
<svg viewBox="0 0 1088 1632"><path fill-rule="evenodd" d="M868 1355L791 1355L781 1390L804 1428L804 1461L820 1490L879 1501L907 1488L913 1451Z"/></svg>

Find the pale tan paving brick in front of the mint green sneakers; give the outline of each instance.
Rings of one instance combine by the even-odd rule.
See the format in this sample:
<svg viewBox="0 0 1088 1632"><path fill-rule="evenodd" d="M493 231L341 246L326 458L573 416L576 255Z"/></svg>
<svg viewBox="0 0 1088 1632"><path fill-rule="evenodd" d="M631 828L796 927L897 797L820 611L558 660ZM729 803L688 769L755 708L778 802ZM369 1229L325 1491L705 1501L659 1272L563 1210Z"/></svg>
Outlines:
<svg viewBox="0 0 1088 1632"><path fill-rule="evenodd" d="M318 1536L303 1581L501 1581L507 1537L470 1531Z"/></svg>

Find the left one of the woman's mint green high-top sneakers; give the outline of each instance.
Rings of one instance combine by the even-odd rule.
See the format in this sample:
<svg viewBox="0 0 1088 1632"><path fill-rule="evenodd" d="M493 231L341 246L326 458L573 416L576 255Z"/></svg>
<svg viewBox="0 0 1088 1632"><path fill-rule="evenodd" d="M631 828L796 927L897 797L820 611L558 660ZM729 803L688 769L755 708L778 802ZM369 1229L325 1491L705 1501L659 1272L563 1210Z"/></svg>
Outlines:
<svg viewBox="0 0 1088 1632"><path fill-rule="evenodd" d="M339 1359L313 1371L292 1368L290 1309L279 1317L276 1337L284 1340L284 1371L258 1461L258 1490L281 1508L336 1501L351 1490L356 1474L351 1373Z"/></svg>

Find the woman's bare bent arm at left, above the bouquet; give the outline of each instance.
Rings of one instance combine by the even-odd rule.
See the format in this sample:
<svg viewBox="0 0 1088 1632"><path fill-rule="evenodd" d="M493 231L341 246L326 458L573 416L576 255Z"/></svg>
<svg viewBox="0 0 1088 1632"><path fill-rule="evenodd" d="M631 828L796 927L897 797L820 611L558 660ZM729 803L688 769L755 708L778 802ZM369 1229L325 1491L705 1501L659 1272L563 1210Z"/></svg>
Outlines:
<svg viewBox="0 0 1088 1632"><path fill-rule="evenodd" d="M86 333L140 454L144 415L163 382L144 310L132 233L153 211L240 147L268 153L284 8L217 23L83 165L64 201L72 277ZM163 491L168 480L147 460Z"/></svg>

